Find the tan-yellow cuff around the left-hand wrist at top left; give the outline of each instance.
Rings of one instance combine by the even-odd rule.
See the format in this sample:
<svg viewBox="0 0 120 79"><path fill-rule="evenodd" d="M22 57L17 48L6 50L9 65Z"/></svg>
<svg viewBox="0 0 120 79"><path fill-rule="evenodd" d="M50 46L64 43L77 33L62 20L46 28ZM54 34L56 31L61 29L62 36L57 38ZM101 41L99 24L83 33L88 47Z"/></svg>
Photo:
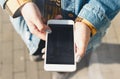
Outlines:
<svg viewBox="0 0 120 79"><path fill-rule="evenodd" d="M20 8L28 2L32 2L32 0L8 0L5 9L10 16L15 18L21 15Z"/></svg>

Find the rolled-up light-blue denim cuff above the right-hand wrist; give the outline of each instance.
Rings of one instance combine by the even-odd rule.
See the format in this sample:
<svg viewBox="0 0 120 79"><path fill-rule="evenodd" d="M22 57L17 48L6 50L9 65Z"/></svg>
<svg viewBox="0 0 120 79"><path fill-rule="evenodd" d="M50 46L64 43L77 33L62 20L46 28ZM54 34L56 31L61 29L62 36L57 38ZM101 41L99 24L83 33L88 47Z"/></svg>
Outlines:
<svg viewBox="0 0 120 79"><path fill-rule="evenodd" d="M99 7L90 4L86 4L81 9L78 17L84 18L90 22L97 32L102 31L104 26L107 26L110 23L108 17Z"/></svg>

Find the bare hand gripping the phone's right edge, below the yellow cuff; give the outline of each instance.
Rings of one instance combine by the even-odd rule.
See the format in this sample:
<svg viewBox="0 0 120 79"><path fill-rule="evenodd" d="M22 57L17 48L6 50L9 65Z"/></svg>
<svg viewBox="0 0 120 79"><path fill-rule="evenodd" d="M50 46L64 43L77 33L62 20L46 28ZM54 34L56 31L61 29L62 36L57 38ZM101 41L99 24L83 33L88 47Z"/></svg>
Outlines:
<svg viewBox="0 0 120 79"><path fill-rule="evenodd" d="M76 62L79 62L86 52L90 40L90 33L91 31L86 24L82 22L75 23L74 38Z"/></svg>

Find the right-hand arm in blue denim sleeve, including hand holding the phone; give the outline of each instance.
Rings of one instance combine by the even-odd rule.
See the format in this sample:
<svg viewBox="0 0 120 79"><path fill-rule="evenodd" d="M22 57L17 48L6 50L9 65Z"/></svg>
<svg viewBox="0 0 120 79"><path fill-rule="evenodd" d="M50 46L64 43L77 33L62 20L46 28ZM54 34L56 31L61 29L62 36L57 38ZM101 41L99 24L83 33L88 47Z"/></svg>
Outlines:
<svg viewBox="0 0 120 79"><path fill-rule="evenodd" d="M79 18L87 20L96 33L104 32L105 26L110 24L110 21L120 10L119 0L90 0L83 6L78 14ZM88 28L86 22L75 23L75 44L79 57L83 57L87 49L90 38L91 28ZM94 36L93 36L94 37Z"/></svg>

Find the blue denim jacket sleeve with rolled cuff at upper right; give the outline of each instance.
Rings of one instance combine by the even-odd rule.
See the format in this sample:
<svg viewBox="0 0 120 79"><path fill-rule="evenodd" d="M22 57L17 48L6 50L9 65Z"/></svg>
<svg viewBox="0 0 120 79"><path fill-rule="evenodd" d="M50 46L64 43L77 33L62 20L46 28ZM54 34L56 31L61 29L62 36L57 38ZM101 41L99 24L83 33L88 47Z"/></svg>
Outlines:
<svg viewBox="0 0 120 79"><path fill-rule="evenodd" d="M99 31L109 25L120 10L120 0L90 0L83 6L79 17L87 19Z"/></svg>

